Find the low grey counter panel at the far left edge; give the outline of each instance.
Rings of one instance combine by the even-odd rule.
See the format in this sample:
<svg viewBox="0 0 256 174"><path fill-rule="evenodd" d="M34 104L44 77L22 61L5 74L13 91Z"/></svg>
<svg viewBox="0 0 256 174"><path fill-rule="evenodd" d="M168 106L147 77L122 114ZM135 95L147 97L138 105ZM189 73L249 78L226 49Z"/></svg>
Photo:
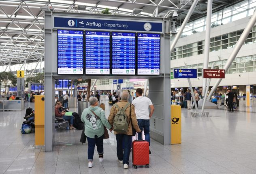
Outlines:
<svg viewBox="0 0 256 174"><path fill-rule="evenodd" d="M23 100L1 100L0 110L22 110Z"/></svg>

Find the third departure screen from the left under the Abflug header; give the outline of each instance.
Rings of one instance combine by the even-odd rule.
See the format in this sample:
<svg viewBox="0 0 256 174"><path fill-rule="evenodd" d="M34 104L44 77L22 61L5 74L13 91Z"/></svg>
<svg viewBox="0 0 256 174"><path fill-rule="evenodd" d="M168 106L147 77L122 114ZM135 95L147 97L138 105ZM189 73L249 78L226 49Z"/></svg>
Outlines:
<svg viewBox="0 0 256 174"><path fill-rule="evenodd" d="M135 33L112 33L112 74L135 75Z"/></svg>

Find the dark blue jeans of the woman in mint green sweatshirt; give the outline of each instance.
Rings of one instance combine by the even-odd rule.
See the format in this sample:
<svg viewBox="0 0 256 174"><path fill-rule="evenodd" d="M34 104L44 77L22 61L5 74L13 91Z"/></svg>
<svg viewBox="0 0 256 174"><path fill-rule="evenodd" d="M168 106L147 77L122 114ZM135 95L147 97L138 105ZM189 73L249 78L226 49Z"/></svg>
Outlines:
<svg viewBox="0 0 256 174"><path fill-rule="evenodd" d="M103 135L99 138L89 138L88 141L88 161L93 161L94 148L97 146L97 151L99 155L103 155Z"/></svg>

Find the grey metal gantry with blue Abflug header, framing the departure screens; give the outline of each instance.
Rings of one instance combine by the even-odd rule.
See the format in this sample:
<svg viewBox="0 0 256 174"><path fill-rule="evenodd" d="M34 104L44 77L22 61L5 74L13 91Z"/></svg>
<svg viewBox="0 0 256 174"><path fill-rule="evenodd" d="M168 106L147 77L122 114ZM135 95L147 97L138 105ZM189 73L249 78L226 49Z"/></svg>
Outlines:
<svg viewBox="0 0 256 174"><path fill-rule="evenodd" d="M116 15L113 18L111 15L102 14L45 11L45 151L51 151L54 145L52 121L55 93L52 91L55 79L149 79L149 97L155 105L154 115L150 119L150 136L164 145L171 143L170 31L166 27L170 22L169 18L158 17ZM160 75L60 75L57 59L58 29L160 34Z"/></svg>

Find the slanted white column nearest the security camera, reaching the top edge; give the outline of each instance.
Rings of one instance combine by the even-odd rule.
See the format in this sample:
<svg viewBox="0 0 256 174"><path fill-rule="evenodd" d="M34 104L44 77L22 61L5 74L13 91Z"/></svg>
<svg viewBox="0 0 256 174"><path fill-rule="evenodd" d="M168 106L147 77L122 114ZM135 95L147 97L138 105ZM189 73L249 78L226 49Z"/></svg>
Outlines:
<svg viewBox="0 0 256 174"><path fill-rule="evenodd" d="M179 37L181 36L181 34L183 32L183 29L185 28L186 24L188 23L188 20L190 19L190 16L192 15L192 13L194 11L197 2L198 2L198 0L194 0L193 4L191 5L190 9L188 10L188 14L186 15L186 17L179 29L179 32L177 33L177 35L175 36L175 38L171 44L171 53L173 52L173 49L174 49L175 45L177 44Z"/></svg>

